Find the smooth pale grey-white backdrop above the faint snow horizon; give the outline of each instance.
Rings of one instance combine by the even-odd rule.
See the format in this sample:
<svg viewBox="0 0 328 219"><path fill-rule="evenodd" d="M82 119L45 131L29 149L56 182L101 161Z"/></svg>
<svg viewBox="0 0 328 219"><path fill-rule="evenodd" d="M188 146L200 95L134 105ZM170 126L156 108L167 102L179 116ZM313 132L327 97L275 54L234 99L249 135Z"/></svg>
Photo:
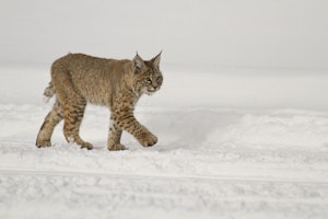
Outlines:
<svg viewBox="0 0 328 219"><path fill-rule="evenodd" d="M0 61L71 53L328 69L327 0L1 0Z"/></svg>

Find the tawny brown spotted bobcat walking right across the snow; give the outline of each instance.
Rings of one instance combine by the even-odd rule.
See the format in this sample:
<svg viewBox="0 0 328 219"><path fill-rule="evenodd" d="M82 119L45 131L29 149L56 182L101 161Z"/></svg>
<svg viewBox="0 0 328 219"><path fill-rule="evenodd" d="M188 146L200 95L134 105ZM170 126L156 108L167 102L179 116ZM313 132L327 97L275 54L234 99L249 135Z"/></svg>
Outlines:
<svg viewBox="0 0 328 219"><path fill-rule="evenodd" d="M38 148L51 146L55 126L63 118L63 134L68 142L92 149L93 146L79 135L86 103L110 108L108 150L124 150L120 143L122 130L130 132L143 146L157 142L156 136L133 116L134 106L142 94L153 94L163 83L160 70L161 53L151 60L138 54L132 60L115 60L83 54L68 54L51 66L51 81L44 95L56 94L52 110L48 113L37 135Z"/></svg>

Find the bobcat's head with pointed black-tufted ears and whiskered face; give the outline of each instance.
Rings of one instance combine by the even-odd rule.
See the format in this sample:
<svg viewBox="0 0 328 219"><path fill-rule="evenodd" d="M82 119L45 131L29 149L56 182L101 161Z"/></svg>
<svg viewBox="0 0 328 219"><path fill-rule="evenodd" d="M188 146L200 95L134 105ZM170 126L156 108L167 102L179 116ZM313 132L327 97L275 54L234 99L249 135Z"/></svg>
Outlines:
<svg viewBox="0 0 328 219"><path fill-rule="evenodd" d="M162 51L149 61L143 60L138 54L132 60L133 91L137 94L151 95L160 90L163 76L160 70Z"/></svg>

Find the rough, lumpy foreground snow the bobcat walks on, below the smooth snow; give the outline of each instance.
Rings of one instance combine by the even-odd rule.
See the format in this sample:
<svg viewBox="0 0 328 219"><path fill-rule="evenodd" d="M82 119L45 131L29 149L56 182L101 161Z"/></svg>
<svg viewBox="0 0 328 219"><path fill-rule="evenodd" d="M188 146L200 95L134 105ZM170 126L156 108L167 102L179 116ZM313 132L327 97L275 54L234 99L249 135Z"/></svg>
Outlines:
<svg viewBox="0 0 328 219"><path fill-rule="evenodd" d="M94 150L66 143L60 127L54 147L37 149L33 140L44 111L0 105L5 124L0 131L1 218L328 215L326 113L140 107L136 116L159 135L159 145L141 148L125 135L129 150L109 152L103 119L108 112L101 107L89 107L82 126Z"/></svg>

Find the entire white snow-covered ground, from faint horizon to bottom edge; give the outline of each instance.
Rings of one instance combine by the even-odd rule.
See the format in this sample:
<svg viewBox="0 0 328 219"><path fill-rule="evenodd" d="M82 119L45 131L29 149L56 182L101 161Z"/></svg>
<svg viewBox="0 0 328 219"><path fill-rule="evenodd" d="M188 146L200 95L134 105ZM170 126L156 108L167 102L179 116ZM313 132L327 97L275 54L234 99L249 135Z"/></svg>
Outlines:
<svg viewBox="0 0 328 219"><path fill-rule="evenodd" d="M89 106L81 136L34 145L51 104L48 67L0 68L0 218L327 218L328 76L163 65L136 116L159 137L106 149L109 112Z"/></svg>

